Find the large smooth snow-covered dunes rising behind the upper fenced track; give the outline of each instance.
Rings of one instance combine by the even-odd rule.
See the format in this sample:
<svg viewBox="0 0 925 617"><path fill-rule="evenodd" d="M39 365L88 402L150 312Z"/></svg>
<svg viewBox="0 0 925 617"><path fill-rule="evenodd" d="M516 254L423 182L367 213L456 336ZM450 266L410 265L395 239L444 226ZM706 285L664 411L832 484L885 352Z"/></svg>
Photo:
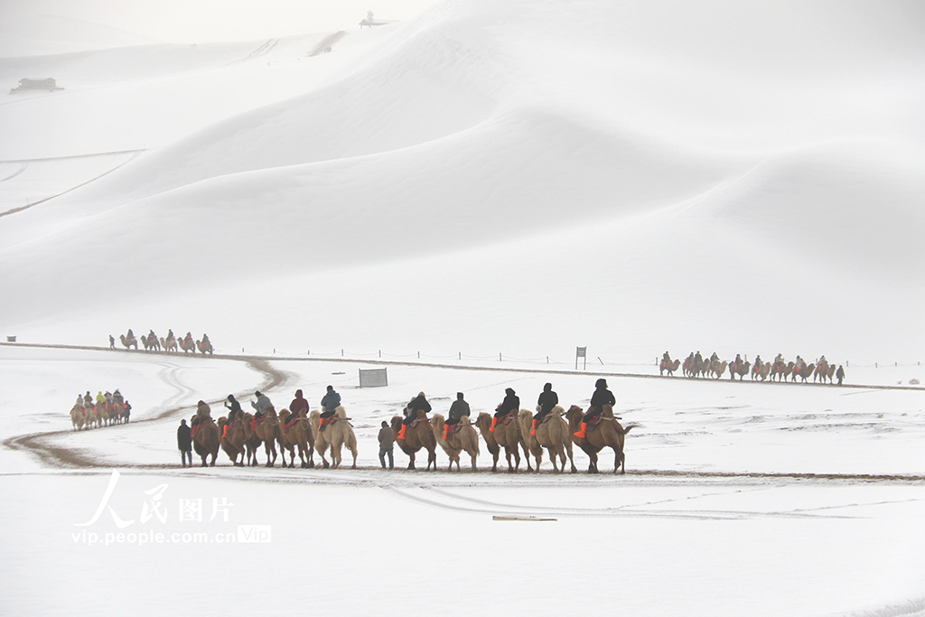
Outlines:
<svg viewBox="0 0 925 617"><path fill-rule="evenodd" d="M144 48L62 58L121 76L73 93L83 117L117 96L120 119L59 126L64 150L148 151L0 217L7 327L917 360L923 19L911 2L460 0L322 56L178 52L141 81ZM25 132L4 147L38 150ZM68 306L101 281L124 290L107 308Z"/></svg>

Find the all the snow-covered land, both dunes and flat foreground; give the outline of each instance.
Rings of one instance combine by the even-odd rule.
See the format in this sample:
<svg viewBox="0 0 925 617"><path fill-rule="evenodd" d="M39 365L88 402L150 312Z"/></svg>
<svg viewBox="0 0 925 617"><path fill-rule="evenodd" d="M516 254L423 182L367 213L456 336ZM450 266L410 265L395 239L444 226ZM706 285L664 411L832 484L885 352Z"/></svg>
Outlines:
<svg viewBox="0 0 925 617"><path fill-rule="evenodd" d="M0 335L173 327L242 353L0 345L2 612L925 614L919 3L448 0L196 45L42 29L0 27L0 83L64 88L0 91ZM585 406L594 371L652 375L666 349L825 353L852 387L609 376L626 475L607 452L602 475L492 475L484 443L477 474L442 451L378 469L378 423L422 389L439 413L508 386L532 408L546 381ZM380 350L442 365L357 389L351 358ZM274 375L277 406L339 389L360 469L179 468L195 401ZM132 423L69 431L78 392L114 388Z"/></svg>

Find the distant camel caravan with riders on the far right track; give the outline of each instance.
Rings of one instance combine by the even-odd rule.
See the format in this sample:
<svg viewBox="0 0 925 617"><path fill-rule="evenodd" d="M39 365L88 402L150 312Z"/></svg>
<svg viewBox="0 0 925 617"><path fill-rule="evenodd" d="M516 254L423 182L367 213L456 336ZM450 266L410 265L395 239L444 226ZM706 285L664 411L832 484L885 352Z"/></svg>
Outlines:
<svg viewBox="0 0 925 617"><path fill-rule="evenodd" d="M796 383L797 378L799 378L800 383L809 383L809 377L812 377L813 383L818 381L820 384L832 384L837 379L838 385L841 386L845 379L845 368L840 365L830 364L824 355L817 362L807 364L800 356L796 356L796 361L794 362L786 362L781 353L777 354L773 362L764 362L761 360L761 356L758 356L755 358L755 363L752 364L743 360L741 354L736 354L732 362L727 362L720 360L720 357L715 352L709 357L709 360L704 360L700 352L691 352L685 358L684 363L681 364L679 360L672 361L669 353L665 352L659 362L659 374L664 376L667 373L668 376L673 376L679 364L683 375L686 377L719 379L728 368L729 378L734 380L738 377L739 381L748 376L753 381L783 382L789 380L791 383Z"/></svg>

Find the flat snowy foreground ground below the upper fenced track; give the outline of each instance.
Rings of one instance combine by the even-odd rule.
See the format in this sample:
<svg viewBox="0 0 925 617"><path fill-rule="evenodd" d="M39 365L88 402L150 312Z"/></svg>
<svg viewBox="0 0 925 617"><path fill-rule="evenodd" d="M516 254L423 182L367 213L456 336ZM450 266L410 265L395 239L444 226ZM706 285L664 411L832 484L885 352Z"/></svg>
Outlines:
<svg viewBox="0 0 925 617"><path fill-rule="evenodd" d="M602 475L556 475L548 460L539 475L492 475L484 443L479 473L448 474L438 450L435 474L404 470L400 450L396 470L378 469L379 422L419 390L440 413L463 391L477 413L509 386L530 407L549 380L563 402L586 405L596 374L387 365L388 387L359 389L357 371L368 364L270 364L284 374L266 390L279 407L295 389L313 408L325 386L339 390L360 469L242 469L224 453L216 467L179 468L175 430L191 405L229 391L248 401L265 381L240 361L0 346L0 438L59 431L44 443L102 465L75 471L5 451L0 568L10 571L0 579L9 610L47 614L74 602L103 610L99 594L71 574L105 567L127 573L105 606L138 614L163 613L171 602L240 614L269 597L283 611L406 614L443 606L448 593L452 614L925 611L921 390L610 377L624 424L635 425L627 475L607 473L606 452ZM100 376L99 387L112 381L130 396L135 421L69 432L71 399ZM34 413L19 413L25 408ZM219 403L213 409L220 413ZM586 468L580 450L575 460ZM132 521L124 528L108 509L94 519L113 470L107 505ZM180 520L190 503L201 512L184 510ZM269 525L269 541L245 542L267 533L249 525ZM39 562L41 575L11 584L17 564ZM257 563L277 573L268 588L203 596L203 586L252 579L247 568ZM302 593L280 594L289 576ZM537 577L552 580L537 585ZM49 584L55 593L37 593Z"/></svg>

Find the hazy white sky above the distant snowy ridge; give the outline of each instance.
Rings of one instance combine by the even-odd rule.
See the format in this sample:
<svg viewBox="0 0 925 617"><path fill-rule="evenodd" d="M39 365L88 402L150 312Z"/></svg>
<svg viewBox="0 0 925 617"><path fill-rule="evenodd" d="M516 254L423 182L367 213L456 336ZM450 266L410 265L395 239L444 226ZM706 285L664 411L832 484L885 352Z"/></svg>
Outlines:
<svg viewBox="0 0 925 617"><path fill-rule="evenodd" d="M235 41L354 28L372 10L410 19L439 0L0 0L0 20L85 19L167 43Z"/></svg>

